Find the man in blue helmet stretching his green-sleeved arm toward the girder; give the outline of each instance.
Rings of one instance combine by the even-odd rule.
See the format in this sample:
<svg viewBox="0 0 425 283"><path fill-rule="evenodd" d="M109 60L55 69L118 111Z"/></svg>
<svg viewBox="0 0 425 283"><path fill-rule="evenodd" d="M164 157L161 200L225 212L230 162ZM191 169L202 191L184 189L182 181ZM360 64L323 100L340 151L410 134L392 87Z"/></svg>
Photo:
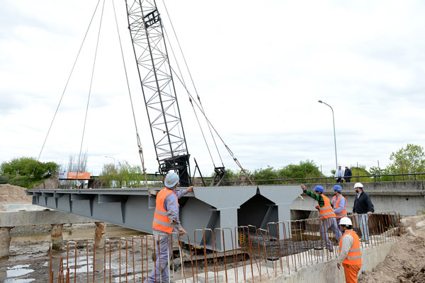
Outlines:
<svg viewBox="0 0 425 283"><path fill-rule="evenodd" d="M321 220L320 233L322 234L322 239L324 239L326 242L327 249L331 252L334 251L334 247L332 246L331 241L329 241L329 237L327 236L326 232L331 226L332 230L334 230L336 241L339 241L339 238L341 238L341 231L339 231L339 228L336 225L336 215L334 209L331 207L329 198L323 194L324 189L321 185L314 187L314 192L307 190L305 185L301 185L301 188L306 195L312 197L314 200L317 200L316 209L319 210Z"/></svg>

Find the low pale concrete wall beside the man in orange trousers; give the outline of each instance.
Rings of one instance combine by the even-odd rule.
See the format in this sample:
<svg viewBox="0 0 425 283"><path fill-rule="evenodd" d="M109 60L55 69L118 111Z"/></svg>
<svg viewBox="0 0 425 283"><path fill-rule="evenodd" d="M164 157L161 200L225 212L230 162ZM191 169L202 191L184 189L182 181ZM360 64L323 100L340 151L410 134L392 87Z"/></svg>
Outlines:
<svg viewBox="0 0 425 283"><path fill-rule="evenodd" d="M383 243L378 247L373 248L363 248L362 253L362 266L361 272L371 271L373 268L378 265L378 263L385 260L388 253L390 253L391 247L395 242ZM276 283L341 283L345 282L344 270L341 267L341 270L338 270L336 267L336 259L329 260L328 262L319 262L314 265L307 267L302 267L293 275L278 275L278 277L271 279L268 282Z"/></svg>

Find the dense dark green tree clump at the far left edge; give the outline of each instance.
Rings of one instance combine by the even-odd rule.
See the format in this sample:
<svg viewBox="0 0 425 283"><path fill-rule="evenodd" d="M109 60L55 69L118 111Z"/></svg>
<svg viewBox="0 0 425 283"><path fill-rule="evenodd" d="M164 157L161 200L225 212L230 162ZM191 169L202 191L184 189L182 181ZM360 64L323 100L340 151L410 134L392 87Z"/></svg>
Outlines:
<svg viewBox="0 0 425 283"><path fill-rule="evenodd" d="M54 162L42 163L33 157L13 158L1 163L1 171L11 185L33 187L57 172L59 165Z"/></svg>

